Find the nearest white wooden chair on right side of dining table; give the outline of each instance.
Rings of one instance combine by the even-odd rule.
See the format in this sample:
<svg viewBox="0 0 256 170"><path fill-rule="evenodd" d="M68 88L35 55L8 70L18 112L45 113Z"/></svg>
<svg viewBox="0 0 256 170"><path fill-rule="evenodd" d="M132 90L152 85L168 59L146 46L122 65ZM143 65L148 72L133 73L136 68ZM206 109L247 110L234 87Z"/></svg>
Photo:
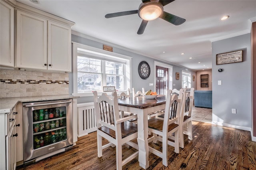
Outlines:
<svg viewBox="0 0 256 170"><path fill-rule="evenodd" d="M164 166L168 166L168 145L174 146L174 152L179 153L179 124L183 93L179 96L181 96L180 99L177 95L172 95L172 90L168 90L164 120L157 118L148 120L148 130L153 134L152 137L148 138L148 142L156 143L157 140L162 142L162 152L151 146L148 147L149 152L162 158ZM174 142L168 140L170 136L174 137Z"/></svg>

